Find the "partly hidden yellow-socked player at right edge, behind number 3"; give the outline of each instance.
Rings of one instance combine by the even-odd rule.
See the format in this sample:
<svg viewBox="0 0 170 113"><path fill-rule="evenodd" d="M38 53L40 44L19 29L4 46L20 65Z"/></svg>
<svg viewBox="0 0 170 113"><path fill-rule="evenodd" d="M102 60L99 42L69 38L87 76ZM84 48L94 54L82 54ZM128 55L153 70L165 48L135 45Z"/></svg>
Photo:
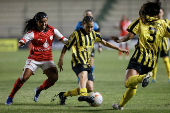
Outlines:
<svg viewBox="0 0 170 113"><path fill-rule="evenodd" d="M170 25L170 21L168 19L163 18L163 15L164 15L164 10L163 8L161 8L159 13L159 18L161 20L164 20L168 25ZM160 46L160 57L163 58L166 73L168 75L168 82L170 83L169 44L168 44L167 37L164 37L162 39L162 43ZM158 64L158 60L157 60L157 64ZM157 64L153 69L152 82L156 82Z"/></svg>

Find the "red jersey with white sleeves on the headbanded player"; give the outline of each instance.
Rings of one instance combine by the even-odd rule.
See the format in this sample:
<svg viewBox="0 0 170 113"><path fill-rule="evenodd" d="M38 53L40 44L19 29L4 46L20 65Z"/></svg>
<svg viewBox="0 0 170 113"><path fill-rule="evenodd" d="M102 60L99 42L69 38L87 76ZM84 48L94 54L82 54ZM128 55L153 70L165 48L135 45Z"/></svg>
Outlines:
<svg viewBox="0 0 170 113"><path fill-rule="evenodd" d="M54 36L57 35L60 39L65 37L54 27L48 25L46 32L39 30L28 31L20 41L25 43L31 40L32 49L28 59L35 61L51 61L52 59L52 42Z"/></svg>

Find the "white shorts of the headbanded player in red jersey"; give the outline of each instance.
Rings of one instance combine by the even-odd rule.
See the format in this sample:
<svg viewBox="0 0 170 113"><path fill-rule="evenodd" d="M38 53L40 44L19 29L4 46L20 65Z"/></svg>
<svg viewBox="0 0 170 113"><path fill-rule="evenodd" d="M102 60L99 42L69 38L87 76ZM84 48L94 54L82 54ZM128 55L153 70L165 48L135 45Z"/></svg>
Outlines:
<svg viewBox="0 0 170 113"><path fill-rule="evenodd" d="M27 59L24 70L26 68L29 68L33 71L34 74L38 68L41 68L44 71L45 69L48 69L50 67L56 67L53 61L35 61L32 59Z"/></svg>

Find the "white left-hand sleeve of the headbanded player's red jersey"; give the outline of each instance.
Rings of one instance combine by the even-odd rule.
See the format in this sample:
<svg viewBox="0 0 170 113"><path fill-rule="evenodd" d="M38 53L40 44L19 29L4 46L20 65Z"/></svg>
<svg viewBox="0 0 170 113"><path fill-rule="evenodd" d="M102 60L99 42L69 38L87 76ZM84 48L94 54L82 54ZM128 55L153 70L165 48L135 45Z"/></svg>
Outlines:
<svg viewBox="0 0 170 113"><path fill-rule="evenodd" d="M34 39L34 32L33 31L28 31L19 42L27 43L30 40Z"/></svg>

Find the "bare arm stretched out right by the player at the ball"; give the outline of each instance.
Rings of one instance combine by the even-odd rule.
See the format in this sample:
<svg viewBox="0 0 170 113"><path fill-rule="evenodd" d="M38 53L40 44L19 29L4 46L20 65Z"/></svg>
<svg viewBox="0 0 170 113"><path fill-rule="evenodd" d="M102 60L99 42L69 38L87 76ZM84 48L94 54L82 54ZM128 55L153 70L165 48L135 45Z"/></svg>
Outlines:
<svg viewBox="0 0 170 113"><path fill-rule="evenodd" d="M109 43L109 42L107 42L107 41L105 41L105 40L103 40L103 39L102 39L102 41L101 41L101 44L103 44L103 45L106 46L106 47L109 47L109 48L112 48L112 49L116 49L116 50L121 51L121 52L123 52L123 53L125 52L125 53L129 54L129 51L128 51L128 50L121 49L121 48L119 48L119 47L117 47L117 46L114 46L113 44L111 44L111 43Z"/></svg>

